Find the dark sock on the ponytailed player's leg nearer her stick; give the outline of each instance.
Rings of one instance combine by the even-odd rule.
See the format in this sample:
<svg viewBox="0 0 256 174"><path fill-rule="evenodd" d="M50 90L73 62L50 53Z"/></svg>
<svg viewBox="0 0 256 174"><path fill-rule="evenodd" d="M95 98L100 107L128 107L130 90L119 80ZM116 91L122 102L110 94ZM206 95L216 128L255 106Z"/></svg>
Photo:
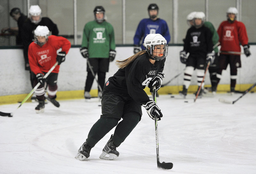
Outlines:
<svg viewBox="0 0 256 174"><path fill-rule="evenodd" d="M126 139L126 137L132 132L135 126L140 121L140 114L137 112L130 112L124 114L123 120L118 123L116 126L114 135L113 135L113 143L116 147L120 146L122 142Z"/></svg>

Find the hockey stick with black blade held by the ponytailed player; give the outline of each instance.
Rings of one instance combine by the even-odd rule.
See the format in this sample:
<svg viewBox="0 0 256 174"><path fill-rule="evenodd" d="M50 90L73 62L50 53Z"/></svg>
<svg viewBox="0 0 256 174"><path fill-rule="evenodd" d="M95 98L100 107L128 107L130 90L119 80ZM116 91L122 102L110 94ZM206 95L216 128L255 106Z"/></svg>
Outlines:
<svg viewBox="0 0 256 174"><path fill-rule="evenodd" d="M156 102L156 86L153 87L154 101ZM172 169L172 163L160 163L159 161L159 146L158 146L158 126L157 126L157 116L155 115L155 131L156 131L156 157L157 157L157 167L161 169Z"/></svg>

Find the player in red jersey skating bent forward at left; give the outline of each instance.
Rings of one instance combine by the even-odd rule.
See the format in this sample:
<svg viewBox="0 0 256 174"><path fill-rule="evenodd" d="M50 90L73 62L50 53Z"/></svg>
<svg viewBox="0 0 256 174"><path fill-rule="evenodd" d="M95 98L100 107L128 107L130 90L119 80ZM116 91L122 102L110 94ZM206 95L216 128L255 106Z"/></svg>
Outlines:
<svg viewBox="0 0 256 174"><path fill-rule="evenodd" d="M44 85L48 84L47 99L56 107L60 107L59 102L55 100L57 93L57 78L61 62L65 61L65 56L71 47L70 42L61 36L51 35L47 26L37 26L34 35L35 42L30 43L28 47L28 61L31 71L36 75L33 87L40 82L40 86L36 89L36 98L38 99L38 106L36 106L36 113L44 112ZM62 49L57 53L58 49ZM51 67L58 61L56 68L50 75L43 79L44 74L47 73Z"/></svg>

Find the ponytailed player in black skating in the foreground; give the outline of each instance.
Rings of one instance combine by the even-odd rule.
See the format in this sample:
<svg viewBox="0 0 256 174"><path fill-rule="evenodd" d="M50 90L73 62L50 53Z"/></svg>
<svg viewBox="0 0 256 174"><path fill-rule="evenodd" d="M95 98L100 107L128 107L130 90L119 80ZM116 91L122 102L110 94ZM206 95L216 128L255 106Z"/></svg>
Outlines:
<svg viewBox="0 0 256 174"><path fill-rule="evenodd" d="M78 149L76 159L82 161L88 158L91 148L115 126L115 132L103 148L100 158L114 160L118 157L116 147L120 146L139 123L142 115L141 105L152 119L155 115L158 120L163 117L156 102L150 100L143 89L146 85L150 91L153 86L156 86L156 90L161 87L168 45L161 34L148 34L144 46L146 50L117 61L120 69L108 79L102 93L102 115L92 126L84 144ZM121 118L123 120L119 122Z"/></svg>

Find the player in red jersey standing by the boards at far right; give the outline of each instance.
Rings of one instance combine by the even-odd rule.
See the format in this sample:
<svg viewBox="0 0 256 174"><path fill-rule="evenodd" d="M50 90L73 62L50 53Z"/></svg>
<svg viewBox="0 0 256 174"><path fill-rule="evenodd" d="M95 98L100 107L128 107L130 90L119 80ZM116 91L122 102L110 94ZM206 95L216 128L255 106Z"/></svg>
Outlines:
<svg viewBox="0 0 256 174"><path fill-rule="evenodd" d="M240 43L244 47L246 57L250 56L250 46L248 45L248 36L244 23L236 20L237 9L229 7L227 11L228 20L223 21L219 28L220 37L220 58L218 62L217 79L218 83L221 79L222 70L226 70L230 66L230 91L235 92L237 68L241 67L240 59Z"/></svg>

